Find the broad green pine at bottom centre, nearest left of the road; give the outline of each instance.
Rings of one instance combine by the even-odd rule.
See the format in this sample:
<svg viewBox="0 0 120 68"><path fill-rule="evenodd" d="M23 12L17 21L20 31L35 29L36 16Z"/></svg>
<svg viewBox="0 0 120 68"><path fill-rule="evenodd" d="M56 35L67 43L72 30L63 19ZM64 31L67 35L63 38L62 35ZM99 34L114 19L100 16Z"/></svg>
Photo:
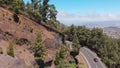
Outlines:
<svg viewBox="0 0 120 68"><path fill-rule="evenodd" d="M65 45L61 45L60 51L56 54L54 62L57 68L70 68L69 62L66 59L68 54L68 48Z"/></svg>

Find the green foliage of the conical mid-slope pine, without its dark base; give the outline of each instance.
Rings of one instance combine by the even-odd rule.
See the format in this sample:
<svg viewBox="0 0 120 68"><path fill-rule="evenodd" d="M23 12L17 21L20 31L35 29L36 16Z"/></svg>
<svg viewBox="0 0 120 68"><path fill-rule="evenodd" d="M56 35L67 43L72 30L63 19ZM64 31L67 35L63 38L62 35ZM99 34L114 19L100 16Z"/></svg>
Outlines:
<svg viewBox="0 0 120 68"><path fill-rule="evenodd" d="M45 60L47 55L45 44L42 40L41 33L37 34L35 44L34 44L34 55L36 59Z"/></svg>

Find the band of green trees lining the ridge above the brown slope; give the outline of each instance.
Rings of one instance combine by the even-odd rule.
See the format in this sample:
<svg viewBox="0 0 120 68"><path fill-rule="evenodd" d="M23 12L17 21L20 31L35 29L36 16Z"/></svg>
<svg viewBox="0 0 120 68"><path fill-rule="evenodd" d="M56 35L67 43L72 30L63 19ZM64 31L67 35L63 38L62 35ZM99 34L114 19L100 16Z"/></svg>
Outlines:
<svg viewBox="0 0 120 68"><path fill-rule="evenodd" d="M62 26L58 25L56 20L57 10L54 4L49 4L50 0L31 0L25 4L23 0L2 0L0 6L9 7L14 14L14 21L19 22L18 14L23 14L37 23L45 22L55 29L61 29ZM49 22L49 23L48 23Z"/></svg>

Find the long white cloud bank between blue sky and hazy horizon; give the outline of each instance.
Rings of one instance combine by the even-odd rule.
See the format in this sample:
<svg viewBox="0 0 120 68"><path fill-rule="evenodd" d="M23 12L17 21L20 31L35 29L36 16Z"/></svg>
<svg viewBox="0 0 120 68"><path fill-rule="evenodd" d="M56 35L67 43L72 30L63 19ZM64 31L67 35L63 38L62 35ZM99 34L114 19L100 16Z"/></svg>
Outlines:
<svg viewBox="0 0 120 68"><path fill-rule="evenodd" d="M61 11L58 13L57 19L66 25L70 25L70 24L85 25L85 24L90 24L91 22L94 24L99 24L100 22L105 23L105 21L120 21L120 15L110 14L110 13L80 15L80 14L70 14Z"/></svg>

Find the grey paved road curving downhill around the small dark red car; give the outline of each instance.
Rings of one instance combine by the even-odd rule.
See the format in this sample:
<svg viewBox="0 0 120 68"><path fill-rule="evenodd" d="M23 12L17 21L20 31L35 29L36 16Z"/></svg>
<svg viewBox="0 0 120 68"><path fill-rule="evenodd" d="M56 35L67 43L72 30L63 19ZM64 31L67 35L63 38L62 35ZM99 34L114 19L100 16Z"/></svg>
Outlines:
<svg viewBox="0 0 120 68"><path fill-rule="evenodd" d="M82 47L80 49L80 52L84 55L89 68L106 68L106 66L102 63L102 61L91 50ZM98 62L95 62L94 58L98 58Z"/></svg>

